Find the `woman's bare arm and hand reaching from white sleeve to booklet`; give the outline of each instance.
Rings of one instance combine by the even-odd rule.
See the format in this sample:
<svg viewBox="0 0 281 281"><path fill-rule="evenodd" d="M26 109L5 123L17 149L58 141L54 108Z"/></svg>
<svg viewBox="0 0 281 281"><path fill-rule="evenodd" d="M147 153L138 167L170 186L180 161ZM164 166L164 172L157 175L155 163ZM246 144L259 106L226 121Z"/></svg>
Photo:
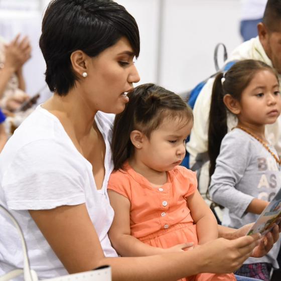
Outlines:
<svg viewBox="0 0 281 281"><path fill-rule="evenodd" d="M220 238L190 251L106 258L85 204L29 212L69 273L109 264L114 281L171 281L200 272L232 272L250 255L259 238Z"/></svg>

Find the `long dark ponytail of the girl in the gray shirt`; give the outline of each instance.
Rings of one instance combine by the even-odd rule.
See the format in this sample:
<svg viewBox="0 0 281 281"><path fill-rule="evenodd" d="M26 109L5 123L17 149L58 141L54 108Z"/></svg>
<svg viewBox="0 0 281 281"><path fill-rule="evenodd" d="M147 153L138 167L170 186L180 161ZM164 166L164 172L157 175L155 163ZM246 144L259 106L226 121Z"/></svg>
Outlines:
<svg viewBox="0 0 281 281"><path fill-rule="evenodd" d="M210 159L209 176L213 175L216 159L220 152L220 145L227 133L227 111L223 102L223 73L217 74L212 90L211 107L209 114L208 154Z"/></svg>

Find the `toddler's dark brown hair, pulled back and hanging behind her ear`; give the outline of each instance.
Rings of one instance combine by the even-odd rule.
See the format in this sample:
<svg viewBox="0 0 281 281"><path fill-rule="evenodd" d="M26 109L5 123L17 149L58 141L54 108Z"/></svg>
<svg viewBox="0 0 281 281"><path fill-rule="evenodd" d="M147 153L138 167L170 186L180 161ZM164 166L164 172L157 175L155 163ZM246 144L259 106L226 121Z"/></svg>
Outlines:
<svg viewBox="0 0 281 281"><path fill-rule="evenodd" d="M193 120L191 108L179 95L155 84L140 85L128 97L124 111L117 114L114 121L112 153L115 170L122 168L133 154L131 131L140 130L150 137L166 117L179 118L183 122Z"/></svg>

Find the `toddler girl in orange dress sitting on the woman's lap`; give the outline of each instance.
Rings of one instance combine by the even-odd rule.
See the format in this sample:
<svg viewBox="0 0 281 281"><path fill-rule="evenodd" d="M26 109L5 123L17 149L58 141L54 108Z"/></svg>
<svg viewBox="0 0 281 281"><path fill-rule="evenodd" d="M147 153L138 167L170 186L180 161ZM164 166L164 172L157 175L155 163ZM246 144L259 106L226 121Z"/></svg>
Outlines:
<svg viewBox="0 0 281 281"><path fill-rule="evenodd" d="M154 84L136 87L114 122L115 171L108 195L115 216L109 231L121 256L184 251L218 237L217 221L197 190L194 172L179 166L193 125L177 94ZM183 280L234 281L201 273Z"/></svg>

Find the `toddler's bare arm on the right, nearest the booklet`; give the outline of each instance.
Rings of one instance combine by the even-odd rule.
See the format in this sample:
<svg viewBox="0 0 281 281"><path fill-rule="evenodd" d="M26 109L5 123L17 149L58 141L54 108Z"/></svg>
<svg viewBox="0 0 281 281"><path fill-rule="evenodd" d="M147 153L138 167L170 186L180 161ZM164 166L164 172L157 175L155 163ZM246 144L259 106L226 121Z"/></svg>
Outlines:
<svg viewBox="0 0 281 281"><path fill-rule="evenodd" d="M199 191L186 198L191 216L196 223L199 244L218 238L217 221L209 206L206 204Z"/></svg>

